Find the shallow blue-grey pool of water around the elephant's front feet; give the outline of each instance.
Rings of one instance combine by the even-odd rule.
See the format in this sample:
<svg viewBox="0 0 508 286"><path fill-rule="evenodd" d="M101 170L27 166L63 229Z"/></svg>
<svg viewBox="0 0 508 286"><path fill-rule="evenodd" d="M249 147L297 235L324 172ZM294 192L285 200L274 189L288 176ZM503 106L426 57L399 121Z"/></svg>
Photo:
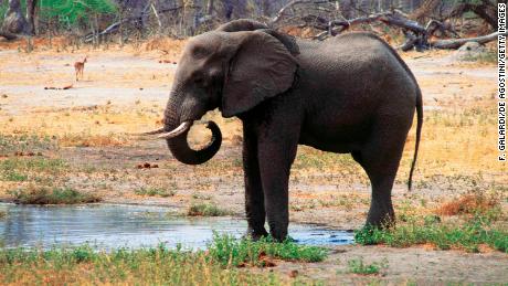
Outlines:
<svg viewBox="0 0 508 286"><path fill-rule="evenodd" d="M246 222L234 218L169 216L168 208L88 204L70 206L35 206L2 203L0 243L4 247L72 246L84 243L99 248L145 247L165 243L202 248L213 231L240 237ZM352 243L352 233L314 225L292 223L289 235L298 243L337 245Z"/></svg>

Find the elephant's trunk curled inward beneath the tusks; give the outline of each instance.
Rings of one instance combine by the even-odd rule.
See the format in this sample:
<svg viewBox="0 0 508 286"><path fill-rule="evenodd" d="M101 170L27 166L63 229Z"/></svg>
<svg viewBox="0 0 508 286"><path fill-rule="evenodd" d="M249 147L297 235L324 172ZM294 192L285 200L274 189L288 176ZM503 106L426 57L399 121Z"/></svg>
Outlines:
<svg viewBox="0 0 508 286"><path fill-rule="evenodd" d="M182 163L187 165L200 165L210 160L221 148L222 134L219 126L209 121L207 127L212 131L212 139L201 150L193 150L190 148L187 136L192 120L186 120L180 123L180 116L178 115L178 108L181 106L178 104L178 96L171 96L165 113L165 130L170 131L169 134L161 135L159 137L167 138L168 148L173 157ZM204 112L203 112L204 114ZM198 118L199 119L199 118ZM170 135L171 134L171 135Z"/></svg>

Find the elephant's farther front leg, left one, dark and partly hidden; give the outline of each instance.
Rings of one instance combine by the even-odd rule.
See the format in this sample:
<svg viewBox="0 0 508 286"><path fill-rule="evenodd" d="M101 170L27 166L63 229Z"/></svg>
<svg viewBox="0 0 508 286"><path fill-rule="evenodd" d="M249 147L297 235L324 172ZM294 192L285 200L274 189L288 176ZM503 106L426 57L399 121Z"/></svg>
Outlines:
<svg viewBox="0 0 508 286"><path fill-rule="evenodd" d="M245 214L247 216L247 235L253 240L268 235L265 230L265 200L257 163L257 138L250 126L244 125L243 133L243 171L245 180Z"/></svg>

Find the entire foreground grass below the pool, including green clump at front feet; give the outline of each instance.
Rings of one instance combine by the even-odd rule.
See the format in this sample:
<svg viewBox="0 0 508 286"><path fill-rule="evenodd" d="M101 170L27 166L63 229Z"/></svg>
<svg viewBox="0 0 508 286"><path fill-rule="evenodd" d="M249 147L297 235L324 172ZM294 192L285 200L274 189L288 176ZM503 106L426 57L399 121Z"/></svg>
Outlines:
<svg viewBox="0 0 508 286"><path fill-rule="evenodd" d="M109 252L83 245L74 248L0 250L0 280L4 284L128 284L128 285L283 285L277 274L246 272L237 266L272 257L320 261L326 252L293 242L235 240L215 234L208 250L119 248ZM260 263L252 265L263 266Z"/></svg>

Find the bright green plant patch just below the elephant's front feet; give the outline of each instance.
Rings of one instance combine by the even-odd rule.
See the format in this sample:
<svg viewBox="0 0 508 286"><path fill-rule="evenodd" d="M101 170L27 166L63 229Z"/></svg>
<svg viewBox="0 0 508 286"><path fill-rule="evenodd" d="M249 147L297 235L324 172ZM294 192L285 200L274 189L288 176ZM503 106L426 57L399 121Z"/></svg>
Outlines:
<svg viewBox="0 0 508 286"><path fill-rule="evenodd" d="M258 241L236 240L229 235L214 234L209 245L209 254L223 266L248 265L265 266L263 256L284 261L320 262L326 258L327 251L317 246L298 245L290 240L274 243L271 237Z"/></svg>

